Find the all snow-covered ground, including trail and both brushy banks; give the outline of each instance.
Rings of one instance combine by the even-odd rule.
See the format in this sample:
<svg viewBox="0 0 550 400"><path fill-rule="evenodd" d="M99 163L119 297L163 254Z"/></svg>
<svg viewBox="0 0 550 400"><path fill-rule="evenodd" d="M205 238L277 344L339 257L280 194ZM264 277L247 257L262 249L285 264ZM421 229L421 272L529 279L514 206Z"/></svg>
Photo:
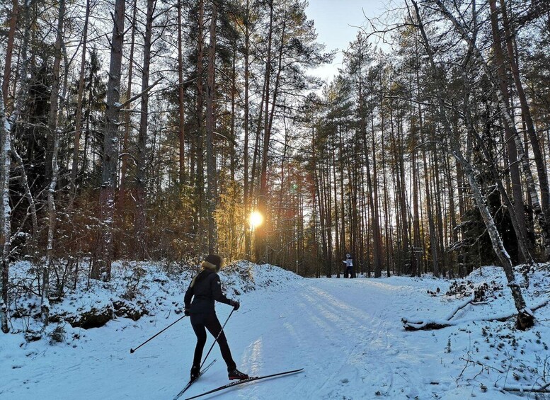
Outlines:
<svg viewBox="0 0 550 400"><path fill-rule="evenodd" d="M19 265L13 273L24 276L25 268L30 267ZM130 348L181 316L176 312L183 307L191 271L171 275L159 266L143 268L131 303L141 302L149 315L137 321L118 318L90 329L65 324L64 343L56 344L46 335L31 342L23 333L0 336L0 399L173 398L188 381L195 347L188 319L134 354ZM86 294L69 293L52 313L68 315L122 298L135 282L132 270L132 265L118 265L112 283L96 283ZM517 394L498 387L550 382L550 307L535 312L537 325L527 332L515 331L512 320L466 322L513 309L500 268L485 267L481 273L474 271L462 289L468 295L471 287L487 282L487 303L458 312L454 319L464 324L411 332L403 329L401 317L442 319L464 302L460 295L445 295L452 281L304 279L270 265L241 262L222 273L228 296L241 302L225 328L239 369L250 375L305 370L205 398L513 399ZM550 273L529 274L528 285L527 304L539 303L550 296ZM229 306L217 305L222 323L229 312ZM30 321L14 319L13 328ZM55 326L50 324L50 332ZM212 341L209 337L205 353ZM185 396L227 382L217 346L210 358L217 362Z"/></svg>

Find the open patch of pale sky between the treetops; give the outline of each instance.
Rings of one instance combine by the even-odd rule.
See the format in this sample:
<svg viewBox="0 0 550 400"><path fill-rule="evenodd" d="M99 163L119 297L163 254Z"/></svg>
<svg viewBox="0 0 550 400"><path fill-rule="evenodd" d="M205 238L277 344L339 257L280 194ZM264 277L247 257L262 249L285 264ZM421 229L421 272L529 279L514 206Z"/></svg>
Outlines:
<svg viewBox="0 0 550 400"><path fill-rule="evenodd" d="M314 70L314 74L331 80L342 65L342 50L355 39L359 26L366 19L380 16L386 10L387 0L309 0L307 16L315 21L317 40L326 50L340 50L330 65Z"/></svg>

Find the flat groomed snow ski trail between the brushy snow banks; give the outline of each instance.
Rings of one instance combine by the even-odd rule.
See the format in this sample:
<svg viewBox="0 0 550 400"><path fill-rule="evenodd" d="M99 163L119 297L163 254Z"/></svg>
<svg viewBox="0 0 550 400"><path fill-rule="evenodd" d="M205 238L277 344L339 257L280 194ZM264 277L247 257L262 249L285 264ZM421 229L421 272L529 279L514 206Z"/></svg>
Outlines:
<svg viewBox="0 0 550 400"><path fill-rule="evenodd" d="M239 297L241 309L225 328L237 367L248 375L305 370L205 399L472 396L472 387L456 381L464 352L444 353L455 328L411 333L401 326L401 316L445 316L452 304L427 297L425 291L435 287L445 291L448 285L442 280L399 277L321 278L289 280L284 286L244 293ZM217 305L222 324L230 310ZM130 354L130 348L175 319L158 314L137 322L115 319L103 328L77 329L81 339L73 347L39 341L19 348L21 337L1 336L0 399L172 399L187 383L193 357L195 336L188 319L136 353ZM209 336L203 356L211 344ZM217 362L182 399L227 382L217 345L209 360L214 358ZM481 398L516 396L490 390Z"/></svg>

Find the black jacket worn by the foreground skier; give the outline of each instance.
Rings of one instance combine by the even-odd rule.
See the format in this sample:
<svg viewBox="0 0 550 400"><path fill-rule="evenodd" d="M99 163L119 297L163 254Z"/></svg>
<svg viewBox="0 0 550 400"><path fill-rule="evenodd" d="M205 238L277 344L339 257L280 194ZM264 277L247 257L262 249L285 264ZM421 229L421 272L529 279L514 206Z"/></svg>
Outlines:
<svg viewBox="0 0 550 400"><path fill-rule="evenodd" d="M193 302L191 302L192 298ZM210 268L201 270L193 278L187 292L185 292L183 301L190 314L213 314L214 301L231 305L231 300L225 297L222 292L222 282L220 282L218 274Z"/></svg>

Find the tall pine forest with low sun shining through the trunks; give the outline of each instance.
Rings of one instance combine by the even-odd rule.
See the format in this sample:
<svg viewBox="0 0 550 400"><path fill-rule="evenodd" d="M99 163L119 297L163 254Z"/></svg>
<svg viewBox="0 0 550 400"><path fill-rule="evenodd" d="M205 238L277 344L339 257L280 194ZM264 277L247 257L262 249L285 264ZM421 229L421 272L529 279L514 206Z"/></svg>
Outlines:
<svg viewBox="0 0 550 400"><path fill-rule="evenodd" d="M305 277L346 253L374 278L496 264L525 311L512 267L550 258L550 3L396 1L328 82L306 7L1 4L4 332L17 260L46 321L79 271L207 253Z"/></svg>

